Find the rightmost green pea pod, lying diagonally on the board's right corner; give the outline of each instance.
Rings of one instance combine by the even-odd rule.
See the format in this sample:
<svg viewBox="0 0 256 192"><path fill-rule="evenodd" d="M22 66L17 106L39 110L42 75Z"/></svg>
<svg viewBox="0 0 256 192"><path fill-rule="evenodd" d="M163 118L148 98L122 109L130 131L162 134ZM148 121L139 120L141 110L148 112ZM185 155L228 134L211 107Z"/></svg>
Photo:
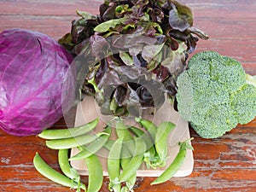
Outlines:
<svg viewBox="0 0 256 192"><path fill-rule="evenodd" d="M191 138L193 139L193 138ZM191 140L189 139L189 140ZM187 148L193 150L193 147L189 145L189 140L179 143L179 151L175 157L175 159L172 161L172 164L168 166L165 172L163 172L160 177L157 177L152 183L153 184L160 184L165 183L167 180L171 179L176 172L179 170L179 168L183 165L183 161L185 160L186 154L187 154Z"/></svg>

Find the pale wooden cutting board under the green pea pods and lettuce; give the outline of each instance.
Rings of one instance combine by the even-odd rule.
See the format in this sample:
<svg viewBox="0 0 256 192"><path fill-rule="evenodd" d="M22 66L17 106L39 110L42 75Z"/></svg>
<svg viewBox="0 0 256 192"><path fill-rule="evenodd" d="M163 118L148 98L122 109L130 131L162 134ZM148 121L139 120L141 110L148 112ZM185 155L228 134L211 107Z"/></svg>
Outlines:
<svg viewBox="0 0 256 192"><path fill-rule="evenodd" d="M96 126L95 131L102 131L102 128L105 126L104 122L108 122L111 117L104 116L100 113L100 108L98 108L97 103L93 99L93 97L86 97L83 102L80 102L77 107L76 119L75 119L75 126L84 125L87 122L90 122L97 117L100 118L99 124ZM179 114L174 111L172 106L165 102L164 105L158 110L157 113L152 117L147 117L151 119L154 124L159 125L160 122L169 120L176 125L176 128L172 131L168 138L168 160L166 162L166 167L172 163L172 160L175 158L179 146L178 141L185 141L189 139L189 125L188 122L180 118ZM127 125L136 125L136 122L131 120L131 118L125 119L125 124ZM136 125L139 127L139 125ZM112 135L111 138L114 139L115 135ZM79 150L77 148L72 148L71 156L77 154ZM97 155L99 156L100 160L102 161L103 172L105 176L108 176L107 172L107 157L108 157L108 150L102 148ZM73 160L71 161L71 165L73 168L78 170L80 175L87 175L86 165L84 160ZM174 177L186 177L192 172L194 166L194 158L193 152L191 150L187 150L186 158L183 162L183 166L179 169ZM166 167L161 167L156 170L148 169L144 164L137 170L138 177L158 177L160 174L166 170Z"/></svg>

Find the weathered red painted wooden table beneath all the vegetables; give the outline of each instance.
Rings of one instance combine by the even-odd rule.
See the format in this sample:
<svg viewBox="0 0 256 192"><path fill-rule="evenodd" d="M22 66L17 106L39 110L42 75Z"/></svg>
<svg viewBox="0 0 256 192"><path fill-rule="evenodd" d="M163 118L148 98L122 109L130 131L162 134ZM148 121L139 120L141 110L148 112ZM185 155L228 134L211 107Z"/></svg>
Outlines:
<svg viewBox="0 0 256 192"><path fill-rule="evenodd" d="M256 3L254 0L187 0L194 10L195 26L208 33L198 51L213 49L241 61L247 73L256 71ZM58 39L69 32L75 10L98 13L102 0L1 0L0 32L13 27L44 32ZM53 128L66 127L64 119ZM138 177L135 191L256 191L256 119L239 125L218 139L202 139L190 129L195 167L189 177L174 177L150 186L154 177ZM38 137L13 137L0 131L0 191L69 191L42 177L33 167L38 151L50 166L57 153ZM83 177L86 183L87 177ZM101 191L108 191L105 178Z"/></svg>

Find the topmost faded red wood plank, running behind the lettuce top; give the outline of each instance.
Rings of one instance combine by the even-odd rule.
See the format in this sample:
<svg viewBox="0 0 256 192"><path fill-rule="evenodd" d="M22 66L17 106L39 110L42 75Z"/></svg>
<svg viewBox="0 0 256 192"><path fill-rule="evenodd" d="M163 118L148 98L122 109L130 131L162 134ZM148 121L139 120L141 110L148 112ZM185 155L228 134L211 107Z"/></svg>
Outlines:
<svg viewBox="0 0 256 192"><path fill-rule="evenodd" d="M253 0L186 0L183 1L195 12L195 17L220 18L240 17L255 18L253 8L256 7ZM73 15L74 10L81 9L92 14L98 13L98 6L103 0L2 0L0 13L8 15ZM29 4L29 6L27 6Z"/></svg>

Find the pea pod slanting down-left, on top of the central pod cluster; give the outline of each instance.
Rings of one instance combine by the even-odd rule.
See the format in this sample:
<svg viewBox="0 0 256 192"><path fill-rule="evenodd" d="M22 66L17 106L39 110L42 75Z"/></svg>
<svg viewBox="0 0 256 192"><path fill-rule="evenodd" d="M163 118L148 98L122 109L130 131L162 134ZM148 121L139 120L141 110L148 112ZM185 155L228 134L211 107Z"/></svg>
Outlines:
<svg viewBox="0 0 256 192"><path fill-rule="evenodd" d="M137 169L143 163L143 157L145 151L147 150L147 145L142 138L136 137L134 140L135 155L131 158L131 161L129 162L128 166L125 167L123 172L121 172L119 182L125 182L127 179L129 179L135 172L137 172Z"/></svg>

